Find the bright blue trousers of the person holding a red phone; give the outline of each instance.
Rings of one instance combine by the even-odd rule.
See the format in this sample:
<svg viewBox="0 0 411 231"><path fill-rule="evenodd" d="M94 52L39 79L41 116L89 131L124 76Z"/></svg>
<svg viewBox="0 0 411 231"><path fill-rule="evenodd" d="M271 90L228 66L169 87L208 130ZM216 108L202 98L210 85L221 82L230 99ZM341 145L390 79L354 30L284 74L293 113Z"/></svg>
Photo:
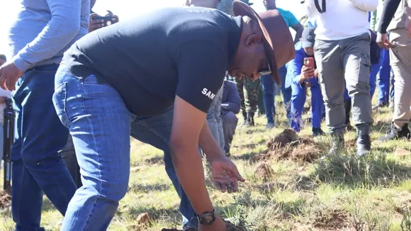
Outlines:
<svg viewBox="0 0 411 231"><path fill-rule="evenodd" d="M321 127L322 111L324 109L324 101L322 100L322 94L320 84L316 78L310 79L311 83L311 115L313 116L313 128ZM300 84L292 84L291 95L291 128L295 132L300 132L301 128L301 116L303 114L304 103L306 99L305 91L307 88Z"/></svg>

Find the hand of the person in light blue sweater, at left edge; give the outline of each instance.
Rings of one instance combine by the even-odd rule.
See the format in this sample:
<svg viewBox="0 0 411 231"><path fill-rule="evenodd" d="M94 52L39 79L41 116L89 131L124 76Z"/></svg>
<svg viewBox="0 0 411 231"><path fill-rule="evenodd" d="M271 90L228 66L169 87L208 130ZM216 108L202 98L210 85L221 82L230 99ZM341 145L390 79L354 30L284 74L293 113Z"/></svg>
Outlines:
<svg viewBox="0 0 411 231"><path fill-rule="evenodd" d="M16 90L16 81L23 76L24 72L16 67L13 62L6 62L0 67L0 86L10 91Z"/></svg>

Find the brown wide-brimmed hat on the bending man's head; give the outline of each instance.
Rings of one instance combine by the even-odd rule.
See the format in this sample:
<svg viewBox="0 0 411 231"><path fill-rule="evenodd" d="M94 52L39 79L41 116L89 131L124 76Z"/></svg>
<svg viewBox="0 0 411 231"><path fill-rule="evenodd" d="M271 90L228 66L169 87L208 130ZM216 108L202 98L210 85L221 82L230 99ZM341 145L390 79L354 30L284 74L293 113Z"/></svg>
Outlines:
<svg viewBox="0 0 411 231"><path fill-rule="evenodd" d="M237 0L232 2L232 11L235 16L249 16L259 24L267 43L271 78L278 86L281 86L278 68L283 67L295 57L293 37L283 16L276 9L257 13L247 4Z"/></svg>

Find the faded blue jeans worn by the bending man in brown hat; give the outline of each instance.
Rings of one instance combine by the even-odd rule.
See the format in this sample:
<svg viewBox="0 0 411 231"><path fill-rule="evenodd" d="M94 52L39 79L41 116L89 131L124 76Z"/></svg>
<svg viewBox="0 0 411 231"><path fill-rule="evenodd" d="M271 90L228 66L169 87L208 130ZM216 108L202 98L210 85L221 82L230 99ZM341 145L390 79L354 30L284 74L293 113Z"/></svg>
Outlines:
<svg viewBox="0 0 411 231"><path fill-rule="evenodd" d="M133 137L167 151L166 171L182 198L181 211L187 218L193 217L167 145L171 111L136 118L112 86L99 82L94 75L77 78L64 66L57 71L55 85L53 101L73 137L83 183L69 203L63 231L107 229L128 188L131 127Z"/></svg>

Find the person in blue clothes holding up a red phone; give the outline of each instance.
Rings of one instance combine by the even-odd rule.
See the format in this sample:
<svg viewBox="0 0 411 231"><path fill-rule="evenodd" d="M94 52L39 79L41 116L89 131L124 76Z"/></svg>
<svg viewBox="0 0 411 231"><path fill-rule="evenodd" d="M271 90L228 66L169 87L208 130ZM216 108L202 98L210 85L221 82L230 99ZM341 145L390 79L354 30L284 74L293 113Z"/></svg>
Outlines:
<svg viewBox="0 0 411 231"><path fill-rule="evenodd" d="M314 58L315 28L303 30L300 42L295 44L295 58L287 64L287 77L291 80L291 128L300 132L306 91L311 89L311 111L313 116L313 135L323 135L321 130L322 109L324 101L315 69L304 66L305 57ZM315 62L314 62L315 63ZM286 84L287 85L287 84Z"/></svg>

